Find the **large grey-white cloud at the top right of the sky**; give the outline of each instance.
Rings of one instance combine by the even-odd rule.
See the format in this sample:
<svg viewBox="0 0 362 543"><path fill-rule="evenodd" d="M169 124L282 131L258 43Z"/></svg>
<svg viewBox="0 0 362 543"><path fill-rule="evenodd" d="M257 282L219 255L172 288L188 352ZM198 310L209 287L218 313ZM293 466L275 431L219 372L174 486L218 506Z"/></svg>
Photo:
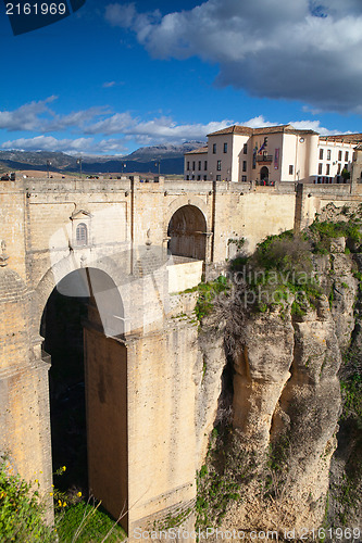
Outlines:
<svg viewBox="0 0 362 543"><path fill-rule="evenodd" d="M112 3L105 18L153 58L217 63L219 85L362 112L361 0L208 0L163 17Z"/></svg>

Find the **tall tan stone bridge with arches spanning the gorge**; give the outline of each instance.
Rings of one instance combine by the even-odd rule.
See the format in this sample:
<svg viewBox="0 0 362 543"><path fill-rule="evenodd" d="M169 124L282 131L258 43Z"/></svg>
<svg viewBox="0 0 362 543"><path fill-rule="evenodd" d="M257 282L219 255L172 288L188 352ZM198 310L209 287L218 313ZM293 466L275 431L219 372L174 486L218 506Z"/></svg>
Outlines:
<svg viewBox="0 0 362 543"><path fill-rule="evenodd" d="M73 371L74 349L92 494L115 518L125 512L128 532L188 507L221 384L198 424L203 362L187 318L196 294L183 291L217 275L241 238L252 251L326 203L357 198L349 186L162 177L1 181L0 451L49 494L50 359Z"/></svg>

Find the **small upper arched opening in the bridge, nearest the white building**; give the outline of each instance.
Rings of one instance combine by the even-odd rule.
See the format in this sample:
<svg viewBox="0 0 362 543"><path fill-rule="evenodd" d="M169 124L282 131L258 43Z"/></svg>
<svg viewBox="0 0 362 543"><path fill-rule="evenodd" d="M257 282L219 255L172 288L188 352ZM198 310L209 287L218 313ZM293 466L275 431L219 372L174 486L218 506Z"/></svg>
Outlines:
<svg viewBox="0 0 362 543"><path fill-rule="evenodd" d="M205 260L207 220L195 205L179 207L171 217L167 236L168 250L173 255Z"/></svg>

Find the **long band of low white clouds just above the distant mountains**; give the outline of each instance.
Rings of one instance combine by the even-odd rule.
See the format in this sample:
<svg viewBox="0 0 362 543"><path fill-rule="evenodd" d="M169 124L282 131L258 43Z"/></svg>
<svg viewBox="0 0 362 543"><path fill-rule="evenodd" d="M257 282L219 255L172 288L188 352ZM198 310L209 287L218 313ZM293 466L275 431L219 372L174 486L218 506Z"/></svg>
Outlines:
<svg viewBox="0 0 362 543"><path fill-rule="evenodd" d="M249 119L223 119L209 123L177 123L171 116L159 115L141 118L129 112L111 113L107 108L97 106L68 114L58 114L48 104L54 101L50 97L40 102L24 104L12 112L0 112L1 127L11 130L35 131L39 135L30 138L8 140L1 149L21 149L24 151L63 151L65 153L125 154L127 147L154 146L185 141L205 141L207 135L237 124L251 128L280 124L259 115ZM296 128L311 128L323 135L338 134L321 126L320 121L291 121ZM15 128L16 127L16 128ZM49 132L54 135L50 135ZM65 132L59 138L58 132ZM77 138L68 134L77 134ZM99 139L103 137L99 141Z"/></svg>

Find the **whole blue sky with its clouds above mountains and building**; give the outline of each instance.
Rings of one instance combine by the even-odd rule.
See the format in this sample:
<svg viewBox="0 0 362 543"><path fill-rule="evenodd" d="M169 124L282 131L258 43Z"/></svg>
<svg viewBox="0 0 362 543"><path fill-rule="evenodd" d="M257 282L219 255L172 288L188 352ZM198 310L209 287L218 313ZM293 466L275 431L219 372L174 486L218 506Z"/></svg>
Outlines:
<svg viewBox="0 0 362 543"><path fill-rule="evenodd" d="M13 36L0 150L127 154L230 124L362 131L361 0L97 2Z"/></svg>

